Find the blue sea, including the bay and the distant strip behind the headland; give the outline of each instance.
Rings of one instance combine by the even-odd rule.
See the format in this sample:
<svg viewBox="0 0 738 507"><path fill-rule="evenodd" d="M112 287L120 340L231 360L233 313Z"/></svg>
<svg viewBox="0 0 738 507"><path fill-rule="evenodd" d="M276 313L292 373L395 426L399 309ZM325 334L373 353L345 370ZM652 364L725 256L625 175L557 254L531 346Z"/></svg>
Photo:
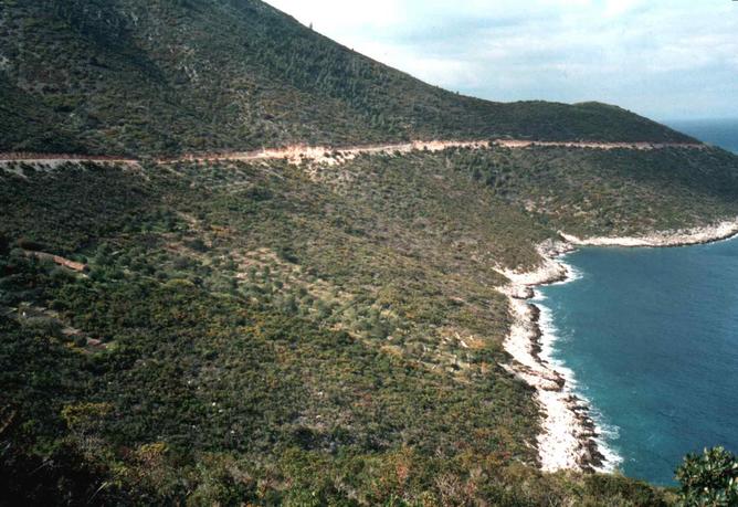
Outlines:
<svg viewBox="0 0 738 507"><path fill-rule="evenodd" d="M738 120L672 126L738 152ZM611 466L674 485L686 453L738 454L738 239L563 261L576 276L535 300L545 353L592 408Z"/></svg>

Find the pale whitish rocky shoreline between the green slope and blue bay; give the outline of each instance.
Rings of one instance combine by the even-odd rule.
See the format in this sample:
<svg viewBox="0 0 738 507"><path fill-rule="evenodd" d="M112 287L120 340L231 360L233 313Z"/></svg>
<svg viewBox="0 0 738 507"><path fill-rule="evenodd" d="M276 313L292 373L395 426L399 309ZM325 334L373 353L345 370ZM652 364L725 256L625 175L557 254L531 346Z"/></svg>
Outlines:
<svg viewBox="0 0 738 507"><path fill-rule="evenodd" d="M548 240L538 247L544 262L537 270L515 272L498 270L510 282L499 291L508 296L514 317L505 349L515 360L505 368L536 389L536 399L545 418L538 435L541 469L605 472L612 468L598 444L600 430L590 408L570 389L561 371L541 357L544 331L540 308L529 299L535 287L571 279L570 267L559 257L577 246L685 246L727 240L738 235L738 219L704 228L652 233L640 237L580 239L559 233L563 241Z"/></svg>

